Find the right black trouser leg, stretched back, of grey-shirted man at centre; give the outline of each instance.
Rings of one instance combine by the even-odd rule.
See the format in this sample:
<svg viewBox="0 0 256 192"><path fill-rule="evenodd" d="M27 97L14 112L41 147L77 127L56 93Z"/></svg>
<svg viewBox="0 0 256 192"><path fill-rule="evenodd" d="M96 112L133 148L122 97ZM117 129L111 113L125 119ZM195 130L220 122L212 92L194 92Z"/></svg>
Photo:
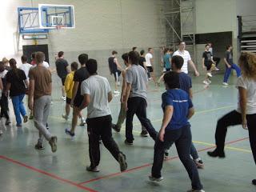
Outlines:
<svg viewBox="0 0 256 192"><path fill-rule="evenodd" d="M158 135L158 132L154 130L154 126L152 126L150 119L146 118L146 99L136 98L136 100L136 103L138 103L138 108L136 110L138 120L142 123L142 126L144 126L146 130L149 132L150 137L155 140L155 138Z"/></svg>

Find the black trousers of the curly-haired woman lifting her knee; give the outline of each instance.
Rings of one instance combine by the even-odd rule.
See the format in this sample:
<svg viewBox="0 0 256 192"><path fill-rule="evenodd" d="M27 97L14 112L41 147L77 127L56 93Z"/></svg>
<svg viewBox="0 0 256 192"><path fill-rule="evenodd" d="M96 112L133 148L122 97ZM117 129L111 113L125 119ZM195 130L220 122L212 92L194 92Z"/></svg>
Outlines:
<svg viewBox="0 0 256 192"><path fill-rule="evenodd" d="M256 114L247 114L246 119L249 130L250 148L253 152L254 162L256 164ZM224 151L227 128L229 126L237 126L240 124L242 124L242 115L236 110L225 114L218 120L215 132L215 140L218 151Z"/></svg>

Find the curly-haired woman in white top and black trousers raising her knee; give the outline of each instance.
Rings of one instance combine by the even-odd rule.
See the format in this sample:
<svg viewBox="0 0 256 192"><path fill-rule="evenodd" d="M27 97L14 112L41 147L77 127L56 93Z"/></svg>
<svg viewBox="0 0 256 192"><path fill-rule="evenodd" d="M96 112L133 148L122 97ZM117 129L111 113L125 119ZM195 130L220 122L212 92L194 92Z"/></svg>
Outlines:
<svg viewBox="0 0 256 192"><path fill-rule="evenodd" d="M256 163L256 55L242 53L239 58L242 76L238 78L238 109L224 115L218 120L215 139L217 148L209 151L210 157L225 158L224 146L228 126L242 124L249 130L250 147ZM256 185L256 179L253 184Z"/></svg>

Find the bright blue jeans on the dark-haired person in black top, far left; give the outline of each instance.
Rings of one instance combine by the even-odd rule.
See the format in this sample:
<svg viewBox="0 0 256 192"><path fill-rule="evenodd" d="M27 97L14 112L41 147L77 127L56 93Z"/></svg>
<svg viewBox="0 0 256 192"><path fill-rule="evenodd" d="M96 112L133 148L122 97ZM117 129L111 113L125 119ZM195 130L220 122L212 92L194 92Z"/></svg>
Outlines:
<svg viewBox="0 0 256 192"><path fill-rule="evenodd" d="M26 110L22 102L24 96L25 94L20 94L18 96L11 97L11 101L13 102L13 106L14 106L14 114L15 114L17 125L22 124L22 118L20 114L22 114L22 117L26 115Z"/></svg>

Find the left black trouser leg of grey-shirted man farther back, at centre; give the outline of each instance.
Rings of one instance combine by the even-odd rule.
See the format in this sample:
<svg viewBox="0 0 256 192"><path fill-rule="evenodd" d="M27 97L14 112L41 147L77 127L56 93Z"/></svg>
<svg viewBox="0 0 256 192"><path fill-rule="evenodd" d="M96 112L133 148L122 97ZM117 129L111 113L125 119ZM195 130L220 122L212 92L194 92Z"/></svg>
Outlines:
<svg viewBox="0 0 256 192"><path fill-rule="evenodd" d="M138 105L139 103L136 101L136 98L128 98L128 110L126 111L126 141L130 143L134 141L133 119Z"/></svg>

